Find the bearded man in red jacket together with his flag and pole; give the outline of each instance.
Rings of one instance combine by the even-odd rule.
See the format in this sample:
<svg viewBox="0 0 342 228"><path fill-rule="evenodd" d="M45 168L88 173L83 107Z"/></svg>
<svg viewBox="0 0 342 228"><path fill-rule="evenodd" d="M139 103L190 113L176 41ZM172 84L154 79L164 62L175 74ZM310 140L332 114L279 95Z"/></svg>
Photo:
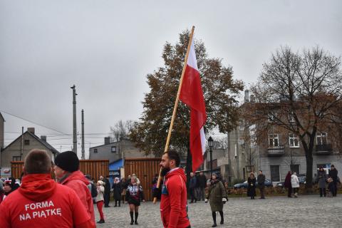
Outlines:
<svg viewBox="0 0 342 228"><path fill-rule="evenodd" d="M177 110L178 100L182 100L190 108L190 152L192 154L192 171L195 172L203 163L205 151L204 123L207 120L201 78L197 68L195 45L192 39L195 27L192 27L185 66L183 66L180 86L178 88L175 108L172 114L165 153L162 155L160 175L164 177L162 185L162 199L160 213L164 227L189 228L187 217L187 187L184 170L179 168L180 155L175 151L168 151L173 121ZM160 178L157 187L160 185Z"/></svg>

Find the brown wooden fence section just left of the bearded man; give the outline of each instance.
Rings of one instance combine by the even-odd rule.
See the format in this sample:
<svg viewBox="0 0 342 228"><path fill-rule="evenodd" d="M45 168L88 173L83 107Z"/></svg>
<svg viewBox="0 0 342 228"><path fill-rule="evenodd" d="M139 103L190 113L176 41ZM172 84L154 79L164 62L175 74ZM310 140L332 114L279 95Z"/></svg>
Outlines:
<svg viewBox="0 0 342 228"><path fill-rule="evenodd" d="M140 185L144 190L146 201L152 201L152 180L155 174L159 174L160 158L126 158L125 177L135 173L140 180Z"/></svg>

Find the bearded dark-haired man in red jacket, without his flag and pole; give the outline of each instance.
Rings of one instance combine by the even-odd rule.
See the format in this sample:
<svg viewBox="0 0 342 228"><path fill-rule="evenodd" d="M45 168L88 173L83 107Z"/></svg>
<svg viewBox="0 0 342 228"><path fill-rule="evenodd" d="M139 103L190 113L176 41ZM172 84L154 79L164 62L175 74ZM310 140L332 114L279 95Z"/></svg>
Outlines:
<svg viewBox="0 0 342 228"><path fill-rule="evenodd" d="M179 167L180 155L175 150L166 152L162 155L160 166L164 177L160 202L162 224L167 228L190 228L187 217L187 177Z"/></svg>

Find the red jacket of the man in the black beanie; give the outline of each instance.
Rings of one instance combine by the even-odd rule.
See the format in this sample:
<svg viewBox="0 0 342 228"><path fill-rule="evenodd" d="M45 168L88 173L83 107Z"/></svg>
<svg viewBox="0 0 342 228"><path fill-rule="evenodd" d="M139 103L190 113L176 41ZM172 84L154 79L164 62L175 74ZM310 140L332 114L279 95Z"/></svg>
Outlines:
<svg viewBox="0 0 342 228"><path fill-rule="evenodd" d="M61 182L61 184L70 187L76 192L78 197L81 199L81 202L86 207L90 218L95 222L93 198L91 197L91 193L87 187L87 185L89 185L89 181L84 177L83 172L80 170L71 172L71 174Z"/></svg>

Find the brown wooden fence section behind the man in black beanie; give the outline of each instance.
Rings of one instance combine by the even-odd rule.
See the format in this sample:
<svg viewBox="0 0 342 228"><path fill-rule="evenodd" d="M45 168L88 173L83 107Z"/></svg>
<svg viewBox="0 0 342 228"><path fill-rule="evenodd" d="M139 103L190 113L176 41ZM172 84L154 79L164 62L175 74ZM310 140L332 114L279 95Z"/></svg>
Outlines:
<svg viewBox="0 0 342 228"><path fill-rule="evenodd" d="M11 175L14 178L20 178L23 172L24 162L11 162ZM95 180L101 175L103 177L109 175L109 160L80 160L80 170L85 175L91 175ZM51 173L54 178L54 173Z"/></svg>

